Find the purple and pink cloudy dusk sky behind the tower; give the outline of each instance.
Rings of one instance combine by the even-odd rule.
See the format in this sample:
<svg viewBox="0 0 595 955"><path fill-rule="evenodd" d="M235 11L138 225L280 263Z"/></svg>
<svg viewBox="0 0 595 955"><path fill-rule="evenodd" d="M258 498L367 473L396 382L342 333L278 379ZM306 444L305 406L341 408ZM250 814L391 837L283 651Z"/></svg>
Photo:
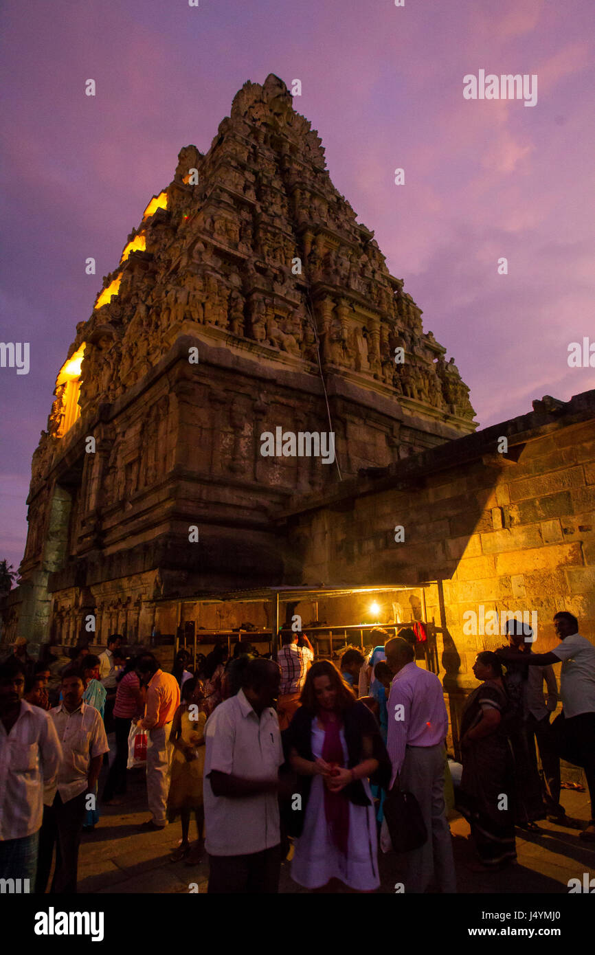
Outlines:
<svg viewBox="0 0 595 955"><path fill-rule="evenodd" d="M595 4L405 2L4 0L0 340L29 341L31 371L0 369L0 559L22 558L31 456L76 322L181 146L208 149L246 79L302 80L294 105L331 179L455 356L482 427L595 387L567 366L570 342L595 341ZM465 100L480 69L538 74L537 105Z"/></svg>

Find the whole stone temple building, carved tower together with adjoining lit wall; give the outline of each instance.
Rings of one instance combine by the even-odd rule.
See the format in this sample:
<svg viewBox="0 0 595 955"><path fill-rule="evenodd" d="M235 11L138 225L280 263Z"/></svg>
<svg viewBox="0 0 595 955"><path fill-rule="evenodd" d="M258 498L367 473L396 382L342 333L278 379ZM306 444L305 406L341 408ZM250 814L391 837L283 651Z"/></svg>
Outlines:
<svg viewBox="0 0 595 955"><path fill-rule="evenodd" d="M476 431L421 316L285 83L245 83L76 326L5 643L270 646L298 615L334 656L417 623L458 707L503 642L465 614L535 610L541 649L559 609L591 635L595 393ZM332 434L334 458L266 434Z"/></svg>

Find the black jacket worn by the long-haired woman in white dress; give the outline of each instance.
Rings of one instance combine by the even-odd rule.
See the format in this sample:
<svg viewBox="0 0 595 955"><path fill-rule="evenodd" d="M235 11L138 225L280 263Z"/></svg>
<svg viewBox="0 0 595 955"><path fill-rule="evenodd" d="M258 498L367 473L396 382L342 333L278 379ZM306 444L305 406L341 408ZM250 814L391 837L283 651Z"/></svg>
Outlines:
<svg viewBox="0 0 595 955"><path fill-rule="evenodd" d="M372 712L364 703L356 701L344 710L341 715L349 755L348 769L362 762L364 758L364 736L370 736L372 738L371 758L378 760L378 768L371 776L371 782L374 786L380 786L382 789L386 789L391 781L393 767ZM298 755L302 756L303 759L314 762L311 744L313 719L315 719L315 717L312 716L308 710L304 707L300 707L300 709L295 712L287 730L282 733L287 762L292 748L295 749ZM284 813L289 836L298 838L302 834L312 779L313 776L298 775L297 792L302 797L301 808L293 809L292 807L287 811L287 814ZM366 796L366 790L364 789L364 784L361 779L355 779L341 790L341 792L356 806L371 805L371 801L368 796ZM295 800L293 800L293 802L295 802Z"/></svg>

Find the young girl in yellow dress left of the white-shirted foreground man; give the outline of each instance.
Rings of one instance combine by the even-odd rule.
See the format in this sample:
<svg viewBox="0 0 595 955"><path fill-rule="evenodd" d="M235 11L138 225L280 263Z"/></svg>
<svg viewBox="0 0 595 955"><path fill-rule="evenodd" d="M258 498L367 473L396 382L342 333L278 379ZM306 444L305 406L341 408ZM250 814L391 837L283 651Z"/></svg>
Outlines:
<svg viewBox="0 0 595 955"><path fill-rule="evenodd" d="M204 771L204 689L196 677L186 680L181 688L181 704L174 715L170 739L174 744L171 781L167 798L167 818L181 817L181 844L172 854L172 862L186 859L197 865L202 857L202 774ZM198 841L192 851L188 840L190 814L194 812ZM187 857L187 858L186 858Z"/></svg>

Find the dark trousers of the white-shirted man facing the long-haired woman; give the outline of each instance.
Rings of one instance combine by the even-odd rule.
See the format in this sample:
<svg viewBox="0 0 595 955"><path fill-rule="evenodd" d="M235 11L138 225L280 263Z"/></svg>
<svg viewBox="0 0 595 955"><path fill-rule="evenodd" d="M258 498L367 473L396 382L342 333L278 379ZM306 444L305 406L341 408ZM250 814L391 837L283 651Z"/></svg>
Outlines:
<svg viewBox="0 0 595 955"><path fill-rule="evenodd" d="M209 895L274 895L279 891L281 845L249 856L209 856Z"/></svg>

